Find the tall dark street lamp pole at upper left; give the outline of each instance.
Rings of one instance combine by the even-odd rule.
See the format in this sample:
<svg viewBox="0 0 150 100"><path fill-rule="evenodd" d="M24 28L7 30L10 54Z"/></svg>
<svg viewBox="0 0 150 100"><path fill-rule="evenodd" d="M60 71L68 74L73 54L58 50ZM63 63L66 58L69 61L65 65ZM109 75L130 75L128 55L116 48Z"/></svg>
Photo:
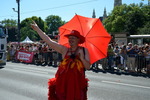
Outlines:
<svg viewBox="0 0 150 100"><path fill-rule="evenodd" d="M20 45L20 0L16 0L18 4L18 11L15 10L15 8L12 8L14 12L18 13L18 45Z"/></svg>

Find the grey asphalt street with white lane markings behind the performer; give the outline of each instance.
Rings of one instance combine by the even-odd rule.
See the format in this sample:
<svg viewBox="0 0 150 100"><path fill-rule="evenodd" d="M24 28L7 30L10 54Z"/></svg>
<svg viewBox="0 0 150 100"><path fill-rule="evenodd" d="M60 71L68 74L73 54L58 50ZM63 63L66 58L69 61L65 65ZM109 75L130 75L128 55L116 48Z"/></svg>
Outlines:
<svg viewBox="0 0 150 100"><path fill-rule="evenodd" d="M0 68L0 100L47 100L57 68L7 62ZM150 100L150 77L86 71L88 100Z"/></svg>

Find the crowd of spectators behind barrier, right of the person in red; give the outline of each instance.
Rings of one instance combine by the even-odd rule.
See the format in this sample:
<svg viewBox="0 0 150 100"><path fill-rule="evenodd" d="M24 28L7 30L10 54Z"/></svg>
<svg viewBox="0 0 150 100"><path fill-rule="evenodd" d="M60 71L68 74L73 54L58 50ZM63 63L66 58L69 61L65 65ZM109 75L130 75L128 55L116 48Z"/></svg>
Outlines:
<svg viewBox="0 0 150 100"><path fill-rule="evenodd" d="M150 43L137 45L109 44L106 58L97 61L92 68L98 68L102 64L105 70L120 70L134 73L150 74Z"/></svg>

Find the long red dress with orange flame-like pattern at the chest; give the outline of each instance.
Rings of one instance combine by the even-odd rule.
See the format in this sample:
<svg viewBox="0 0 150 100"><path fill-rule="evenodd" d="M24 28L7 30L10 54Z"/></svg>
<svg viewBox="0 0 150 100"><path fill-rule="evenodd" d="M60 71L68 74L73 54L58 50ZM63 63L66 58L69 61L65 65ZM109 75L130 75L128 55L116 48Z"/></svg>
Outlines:
<svg viewBox="0 0 150 100"><path fill-rule="evenodd" d="M48 86L48 100L87 100L88 79L79 57L72 59L66 54Z"/></svg>

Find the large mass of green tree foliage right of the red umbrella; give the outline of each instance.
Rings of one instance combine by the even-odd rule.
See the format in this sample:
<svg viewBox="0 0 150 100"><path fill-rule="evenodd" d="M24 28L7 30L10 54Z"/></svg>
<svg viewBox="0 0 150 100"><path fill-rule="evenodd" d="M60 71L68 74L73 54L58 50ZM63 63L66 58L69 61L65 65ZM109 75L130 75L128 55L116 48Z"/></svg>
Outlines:
<svg viewBox="0 0 150 100"><path fill-rule="evenodd" d="M150 21L150 6L142 3L116 6L103 21L108 32L129 32L129 34L138 34L140 28L143 28Z"/></svg>

